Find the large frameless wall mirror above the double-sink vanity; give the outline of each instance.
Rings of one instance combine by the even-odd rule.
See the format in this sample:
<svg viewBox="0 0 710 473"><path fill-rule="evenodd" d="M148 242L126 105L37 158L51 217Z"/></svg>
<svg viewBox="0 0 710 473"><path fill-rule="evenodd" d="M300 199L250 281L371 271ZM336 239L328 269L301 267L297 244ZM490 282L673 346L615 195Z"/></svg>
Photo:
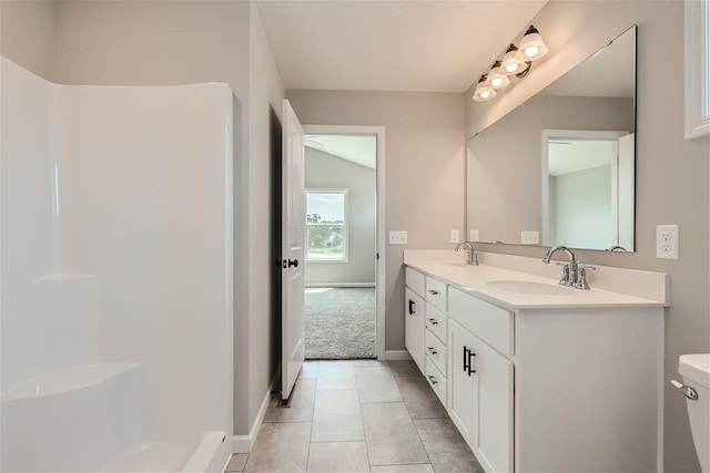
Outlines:
<svg viewBox="0 0 710 473"><path fill-rule="evenodd" d="M467 234L523 244L523 232L532 232L544 245L632 251L636 27L470 138ZM619 145L622 135L628 136ZM569 178L554 177L551 188L548 146L571 146L562 160L577 168ZM606 157L596 157L597 165L579 164L589 160L587 153ZM572 193L560 195L568 187Z"/></svg>

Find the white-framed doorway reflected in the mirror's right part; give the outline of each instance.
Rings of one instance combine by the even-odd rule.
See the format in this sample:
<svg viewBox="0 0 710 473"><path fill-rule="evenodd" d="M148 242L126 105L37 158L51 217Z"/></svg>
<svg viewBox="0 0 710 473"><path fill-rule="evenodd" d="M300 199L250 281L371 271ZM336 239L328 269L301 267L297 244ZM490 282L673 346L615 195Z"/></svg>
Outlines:
<svg viewBox="0 0 710 473"><path fill-rule="evenodd" d="M542 131L542 232L548 246L632 249L632 133Z"/></svg>

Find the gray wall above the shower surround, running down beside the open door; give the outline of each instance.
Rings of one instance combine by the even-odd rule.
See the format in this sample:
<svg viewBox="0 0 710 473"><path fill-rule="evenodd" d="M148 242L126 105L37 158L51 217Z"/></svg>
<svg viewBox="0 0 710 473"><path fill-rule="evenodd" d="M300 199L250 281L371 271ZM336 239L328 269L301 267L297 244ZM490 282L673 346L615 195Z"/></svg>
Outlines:
<svg viewBox="0 0 710 473"><path fill-rule="evenodd" d="M285 93L256 7L241 0L2 0L0 16L2 54L52 81L225 82L234 91L241 130L234 184L234 431L247 434L278 362L273 339L280 321L270 316L268 156L277 151L274 121Z"/></svg>

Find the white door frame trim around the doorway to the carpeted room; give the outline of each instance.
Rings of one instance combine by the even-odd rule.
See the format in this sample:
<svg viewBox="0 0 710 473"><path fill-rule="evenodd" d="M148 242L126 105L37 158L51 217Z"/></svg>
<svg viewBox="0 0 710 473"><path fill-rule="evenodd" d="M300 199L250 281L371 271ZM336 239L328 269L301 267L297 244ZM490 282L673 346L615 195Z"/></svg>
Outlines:
<svg viewBox="0 0 710 473"><path fill-rule="evenodd" d="M385 285L386 285L386 239L385 239L385 127L367 125L303 125L306 134L317 135L367 135L377 137L377 359L385 360Z"/></svg>

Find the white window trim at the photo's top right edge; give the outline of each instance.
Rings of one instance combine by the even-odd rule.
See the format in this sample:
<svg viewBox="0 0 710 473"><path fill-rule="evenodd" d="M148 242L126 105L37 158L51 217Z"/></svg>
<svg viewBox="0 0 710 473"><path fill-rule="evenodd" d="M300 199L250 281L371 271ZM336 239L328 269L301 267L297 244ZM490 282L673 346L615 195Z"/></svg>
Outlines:
<svg viewBox="0 0 710 473"><path fill-rule="evenodd" d="M708 9L710 0L686 0L686 140L710 134L710 116L703 111L708 85ZM700 61L698 61L700 58Z"/></svg>

